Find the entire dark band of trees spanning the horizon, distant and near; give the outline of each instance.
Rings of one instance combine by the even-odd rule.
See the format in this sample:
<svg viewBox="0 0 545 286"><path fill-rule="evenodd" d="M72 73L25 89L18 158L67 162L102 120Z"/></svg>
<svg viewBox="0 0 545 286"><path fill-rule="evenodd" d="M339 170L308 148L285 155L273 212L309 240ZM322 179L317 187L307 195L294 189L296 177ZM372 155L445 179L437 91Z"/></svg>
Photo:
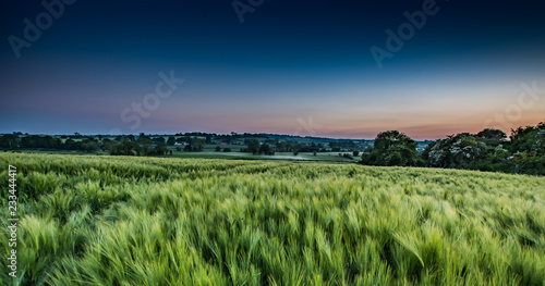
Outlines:
<svg viewBox="0 0 545 286"><path fill-rule="evenodd" d="M181 135L181 134L180 134ZM177 146L178 151L203 151L204 147L213 144L214 134L191 133L181 137L126 135L111 138L85 137L80 134L62 136L64 140L53 136L26 135L21 133L0 136L0 148L43 149L43 150L74 150L83 152L105 151L112 156L165 156L172 154L168 146ZM205 136L198 138L196 136ZM259 141L251 138L252 134L238 135L232 133L226 138L242 137L246 148L241 152L253 154L274 156L275 152L340 151L340 148L352 149L353 157L359 156L359 146L355 142L329 142L328 148L322 142L303 145L294 140L280 141L278 139ZM267 138L268 139L268 138ZM220 140L218 140L220 141ZM403 133L387 130L379 133L373 146L368 146L361 156L361 163L383 166L427 166L481 170L506 173L522 173L545 175L545 123L536 126L525 126L511 129L509 137L500 129L486 128L477 134L460 133L447 136L429 144L422 152L416 151L417 144ZM219 146L216 151L220 151ZM225 152L231 151L223 148ZM352 158L350 154L346 154Z"/></svg>

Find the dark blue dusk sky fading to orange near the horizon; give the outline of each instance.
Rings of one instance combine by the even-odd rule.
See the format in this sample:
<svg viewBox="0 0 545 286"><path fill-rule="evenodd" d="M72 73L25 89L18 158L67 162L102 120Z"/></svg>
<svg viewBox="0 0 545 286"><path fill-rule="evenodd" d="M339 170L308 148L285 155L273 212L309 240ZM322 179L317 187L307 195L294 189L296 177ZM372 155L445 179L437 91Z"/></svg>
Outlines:
<svg viewBox="0 0 545 286"><path fill-rule="evenodd" d="M2 1L0 133L437 139L545 121L543 1Z"/></svg>

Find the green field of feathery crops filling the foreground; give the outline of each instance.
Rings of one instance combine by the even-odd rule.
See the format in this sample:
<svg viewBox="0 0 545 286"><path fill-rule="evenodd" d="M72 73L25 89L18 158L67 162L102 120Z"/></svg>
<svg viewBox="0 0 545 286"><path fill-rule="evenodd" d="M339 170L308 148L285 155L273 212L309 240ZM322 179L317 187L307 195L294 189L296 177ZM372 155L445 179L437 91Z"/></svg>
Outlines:
<svg viewBox="0 0 545 286"><path fill-rule="evenodd" d="M0 154L20 285L545 285L545 178L305 162Z"/></svg>

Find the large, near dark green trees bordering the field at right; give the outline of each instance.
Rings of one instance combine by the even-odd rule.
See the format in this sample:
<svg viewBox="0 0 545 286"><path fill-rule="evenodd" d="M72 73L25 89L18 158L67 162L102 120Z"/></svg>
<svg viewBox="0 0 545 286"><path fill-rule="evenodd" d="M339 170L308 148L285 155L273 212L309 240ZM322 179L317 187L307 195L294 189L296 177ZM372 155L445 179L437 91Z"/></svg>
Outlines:
<svg viewBox="0 0 545 286"><path fill-rule="evenodd" d="M403 133L379 133L362 154L363 164L428 166L545 175L545 124L511 129L485 128L460 133L429 144L421 154Z"/></svg>

